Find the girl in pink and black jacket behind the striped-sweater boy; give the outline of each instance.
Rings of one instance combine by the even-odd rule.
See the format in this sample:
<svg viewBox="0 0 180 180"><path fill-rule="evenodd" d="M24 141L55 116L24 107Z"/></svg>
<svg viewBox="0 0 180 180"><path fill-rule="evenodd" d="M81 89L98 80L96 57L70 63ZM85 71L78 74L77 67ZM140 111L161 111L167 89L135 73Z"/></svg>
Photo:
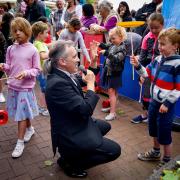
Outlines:
<svg viewBox="0 0 180 180"><path fill-rule="evenodd" d="M139 62L146 67L151 61L160 55L158 49L158 35L163 29L164 18L162 14L153 13L148 18L148 27L150 32L143 38L141 52L139 55ZM140 85L143 85L142 105L143 113L134 117L131 122L138 124L148 121L148 107L150 97L150 79L140 77Z"/></svg>

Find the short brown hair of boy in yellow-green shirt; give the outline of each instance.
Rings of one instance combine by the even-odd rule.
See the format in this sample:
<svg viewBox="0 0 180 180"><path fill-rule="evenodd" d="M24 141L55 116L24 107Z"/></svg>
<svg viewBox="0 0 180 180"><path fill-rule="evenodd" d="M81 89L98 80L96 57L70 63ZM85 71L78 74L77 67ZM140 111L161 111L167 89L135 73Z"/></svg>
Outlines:
<svg viewBox="0 0 180 180"><path fill-rule="evenodd" d="M32 25L32 33L34 38L36 38L39 33L43 33L44 31L48 30L48 28L48 25L42 21L35 22Z"/></svg>

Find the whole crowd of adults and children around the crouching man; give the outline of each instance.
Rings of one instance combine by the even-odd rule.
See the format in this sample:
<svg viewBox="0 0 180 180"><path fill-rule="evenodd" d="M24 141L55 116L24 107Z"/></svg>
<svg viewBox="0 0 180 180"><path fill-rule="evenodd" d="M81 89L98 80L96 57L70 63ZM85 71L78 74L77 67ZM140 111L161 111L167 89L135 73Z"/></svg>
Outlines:
<svg viewBox="0 0 180 180"><path fill-rule="evenodd" d="M0 78L5 74L8 84L5 98L0 80L0 102L6 102L9 118L18 123L12 158L23 154L39 113L50 117L53 152L58 149L57 163L66 175L86 177L86 169L118 158L120 145L104 135L111 129L108 121L116 119L117 90L126 83L122 74L128 55L144 87L144 113L132 122L148 121L153 137L153 148L138 154L138 159L161 160L160 166L171 160L171 126L180 97L180 30L163 29L161 6L161 0L152 0L135 12L126 1L113 7L108 0L57 0L56 9L47 13L41 0L19 0L15 6L0 3ZM116 26L134 20L145 24L134 29ZM86 33L101 34L103 42L92 40L87 49ZM82 72L79 49L88 61ZM101 74L100 55L105 57ZM109 95L109 107L102 108L109 113L105 120L92 117L98 83Z"/></svg>

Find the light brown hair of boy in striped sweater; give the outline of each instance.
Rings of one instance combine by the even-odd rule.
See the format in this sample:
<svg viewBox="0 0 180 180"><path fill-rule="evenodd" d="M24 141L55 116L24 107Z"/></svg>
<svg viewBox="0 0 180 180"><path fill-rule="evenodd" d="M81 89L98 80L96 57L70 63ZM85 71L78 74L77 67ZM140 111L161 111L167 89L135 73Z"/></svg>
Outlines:
<svg viewBox="0 0 180 180"><path fill-rule="evenodd" d="M168 38L168 40L174 45L178 44L178 47L180 47L180 30L176 28L168 28L164 29L160 32L158 39L165 39Z"/></svg>

